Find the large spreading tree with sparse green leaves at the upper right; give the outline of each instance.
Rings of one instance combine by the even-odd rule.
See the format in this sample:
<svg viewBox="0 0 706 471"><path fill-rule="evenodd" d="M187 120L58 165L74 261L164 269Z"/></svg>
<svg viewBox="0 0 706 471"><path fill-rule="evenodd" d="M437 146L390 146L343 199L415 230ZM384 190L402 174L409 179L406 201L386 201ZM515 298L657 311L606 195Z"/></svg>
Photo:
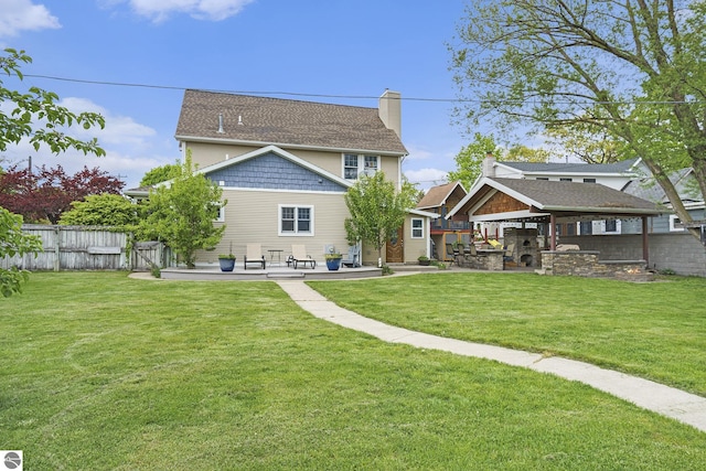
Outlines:
<svg viewBox="0 0 706 471"><path fill-rule="evenodd" d="M667 174L692 165L706 195L706 3L471 0L450 45L466 124L608 132L639 156L677 215Z"/></svg>

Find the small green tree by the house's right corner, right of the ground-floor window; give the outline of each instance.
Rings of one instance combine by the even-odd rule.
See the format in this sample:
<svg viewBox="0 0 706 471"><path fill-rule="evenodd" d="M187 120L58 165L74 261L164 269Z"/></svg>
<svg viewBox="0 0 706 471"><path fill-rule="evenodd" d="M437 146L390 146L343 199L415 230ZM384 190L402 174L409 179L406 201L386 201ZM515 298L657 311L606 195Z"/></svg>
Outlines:
<svg viewBox="0 0 706 471"><path fill-rule="evenodd" d="M363 240L377 249L378 265L383 246L404 224L407 211L414 203L415 188L404 183L402 191L385 180L383 172L373 176L362 175L345 194L351 217L345 220L345 232L351 243Z"/></svg>

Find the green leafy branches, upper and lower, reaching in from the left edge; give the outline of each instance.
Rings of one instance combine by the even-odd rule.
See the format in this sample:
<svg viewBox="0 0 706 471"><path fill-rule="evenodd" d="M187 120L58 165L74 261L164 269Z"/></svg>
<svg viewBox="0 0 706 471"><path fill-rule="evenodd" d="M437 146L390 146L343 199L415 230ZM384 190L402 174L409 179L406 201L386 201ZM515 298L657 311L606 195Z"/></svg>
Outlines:
<svg viewBox="0 0 706 471"><path fill-rule="evenodd" d="M6 49L0 55L0 77L14 76L22 79L21 65L32 62L24 51ZM0 78L0 152L8 146L18 144L23 139L39 150L45 144L54 153L75 149L84 153L105 156L98 141L81 141L66 133L72 125L89 129L103 128L103 117L95 113L75 114L56 104L58 96L38 87L28 90L11 90ZM0 207L0 258L7 255L36 254L42 249L41 240L22 234L22 216ZM0 291L3 296L18 292L28 274L17 268L0 268Z"/></svg>

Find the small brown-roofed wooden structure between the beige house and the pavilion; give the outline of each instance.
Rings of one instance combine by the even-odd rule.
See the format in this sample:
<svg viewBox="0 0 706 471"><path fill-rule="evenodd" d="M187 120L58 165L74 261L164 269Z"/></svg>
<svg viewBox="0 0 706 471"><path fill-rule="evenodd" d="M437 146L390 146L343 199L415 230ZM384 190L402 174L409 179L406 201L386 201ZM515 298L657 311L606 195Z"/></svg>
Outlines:
<svg viewBox="0 0 706 471"><path fill-rule="evenodd" d="M431 255L438 260L451 260L452 255L447 254L447 244L462 240L467 245L471 239L471 226L468 221L447 220L446 215L468 194L461 182L451 182L430 188L421 201L417 203L417 210L438 214L437 220L431 221L429 233L431 235Z"/></svg>

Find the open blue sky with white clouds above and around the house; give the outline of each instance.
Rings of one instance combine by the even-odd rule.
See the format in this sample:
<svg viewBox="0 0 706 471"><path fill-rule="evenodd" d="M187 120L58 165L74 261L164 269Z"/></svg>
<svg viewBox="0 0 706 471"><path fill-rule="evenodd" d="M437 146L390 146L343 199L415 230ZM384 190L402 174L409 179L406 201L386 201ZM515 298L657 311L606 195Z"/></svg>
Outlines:
<svg viewBox="0 0 706 471"><path fill-rule="evenodd" d="M463 10L463 0L0 0L0 49L33 60L22 82L2 76L2 86L38 86L73 111L100 113L104 130L72 133L97 137L107 153L22 142L1 164L31 156L69 173L97 167L129 189L180 158L185 88L365 107L388 88L403 97L405 175L422 190L442 184L469 143L451 124L447 49Z"/></svg>

